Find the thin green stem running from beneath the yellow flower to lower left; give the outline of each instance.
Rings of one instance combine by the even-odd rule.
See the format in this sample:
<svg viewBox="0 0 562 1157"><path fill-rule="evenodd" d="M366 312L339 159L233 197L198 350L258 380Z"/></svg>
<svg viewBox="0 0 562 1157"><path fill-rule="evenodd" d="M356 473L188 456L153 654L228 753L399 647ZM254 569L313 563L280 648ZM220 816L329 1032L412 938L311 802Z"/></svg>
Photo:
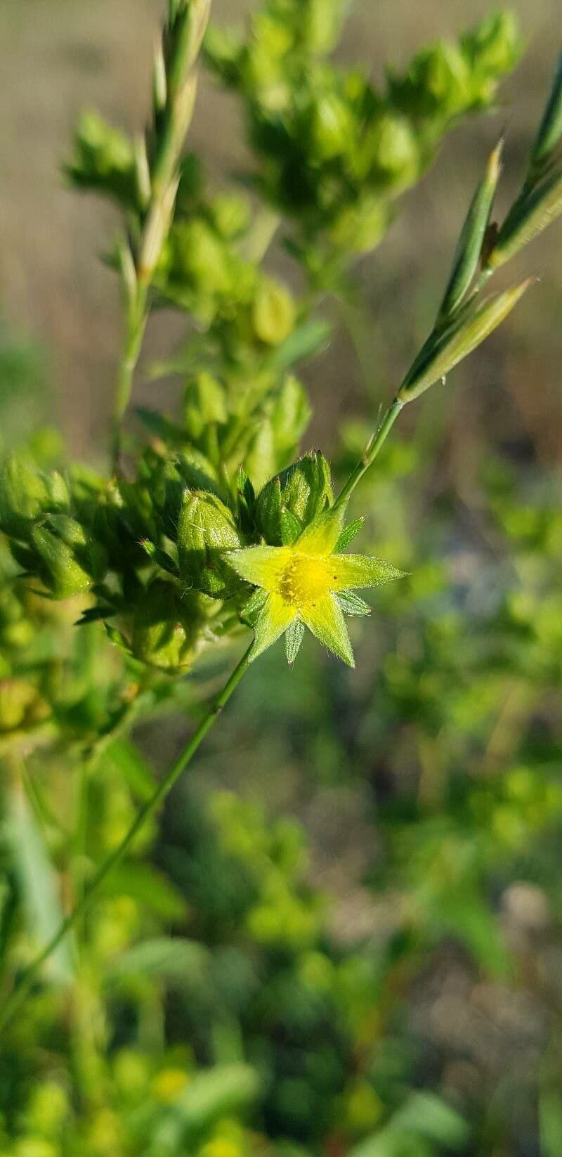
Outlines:
<svg viewBox="0 0 562 1157"><path fill-rule="evenodd" d="M0 1011L0 1031L6 1027L9 1020L12 1020L15 1012L17 1012L17 1010L23 1004L42 966L50 958L50 956L52 956L52 953L59 946L61 941L65 938L66 934L73 928L76 921L82 916L82 914L89 907L91 900L94 899L95 894L99 889L99 885L103 883L103 880L112 870L112 868L114 868L116 864L121 862L128 848L131 847L131 843L133 842L135 835L143 827L147 819L150 819L150 817L154 816L155 811L157 810L162 801L165 799L165 797L171 791L173 784L182 775L182 772L185 771L187 765L193 759L193 756L198 751L207 732L210 731L210 728L213 727L215 720L220 715L222 708L225 706L225 703L228 703L232 692L236 690L241 679L245 675L247 670L249 654L250 654L250 648L247 649L247 651L245 651L239 663L235 666L231 676L224 684L224 687L222 688L221 693L212 703L207 715L199 724L197 731L194 732L190 742L186 744L186 746L180 752L178 758L171 765L169 772L167 773L162 782L158 784L156 790L153 793L150 798L147 799L145 805L138 812L136 818L134 819L133 824L124 835L118 847L113 849L111 855L109 855L108 858L104 860L102 864L99 864L99 868L90 879L88 886L82 892L82 896L80 897L79 901L76 902L72 912L68 913L68 915L59 926L59 928L51 937L49 943L45 944L45 946L40 950L38 956L36 956L35 960L31 961L31 964L28 966L28 968L21 977L19 985L14 988L12 996L7 1000L6 1004L3 1005L3 1009Z"/></svg>

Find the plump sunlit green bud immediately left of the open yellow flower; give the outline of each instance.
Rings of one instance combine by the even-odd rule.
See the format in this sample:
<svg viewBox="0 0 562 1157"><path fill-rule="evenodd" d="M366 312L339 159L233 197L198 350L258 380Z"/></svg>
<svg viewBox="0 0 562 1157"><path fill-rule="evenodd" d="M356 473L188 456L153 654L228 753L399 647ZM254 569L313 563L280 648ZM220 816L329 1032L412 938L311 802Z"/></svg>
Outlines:
<svg viewBox="0 0 562 1157"><path fill-rule="evenodd" d="M231 511L215 494L185 491L178 519L182 577L212 598L228 598L239 580L222 558L242 541Z"/></svg>

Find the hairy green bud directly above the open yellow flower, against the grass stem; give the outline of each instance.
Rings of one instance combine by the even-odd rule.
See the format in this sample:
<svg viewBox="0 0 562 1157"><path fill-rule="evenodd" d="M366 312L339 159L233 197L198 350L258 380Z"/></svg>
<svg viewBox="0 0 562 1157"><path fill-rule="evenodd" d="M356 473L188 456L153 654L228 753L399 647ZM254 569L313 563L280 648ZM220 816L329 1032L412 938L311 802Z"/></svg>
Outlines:
<svg viewBox="0 0 562 1157"><path fill-rule="evenodd" d="M271 546L289 545L332 501L330 465L312 450L264 486L256 503L258 531Z"/></svg>

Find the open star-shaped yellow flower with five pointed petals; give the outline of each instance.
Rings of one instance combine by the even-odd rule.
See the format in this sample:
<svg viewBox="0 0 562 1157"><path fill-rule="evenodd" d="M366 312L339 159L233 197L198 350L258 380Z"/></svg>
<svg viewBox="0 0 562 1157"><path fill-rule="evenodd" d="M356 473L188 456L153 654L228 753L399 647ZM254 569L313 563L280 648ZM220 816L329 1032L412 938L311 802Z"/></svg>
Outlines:
<svg viewBox="0 0 562 1157"><path fill-rule="evenodd" d="M339 554L361 523L342 530L343 511L328 510L291 546L250 546L225 554L230 566L258 590L245 607L254 628L250 662L287 632L287 658L293 663L304 627L348 666L355 666L347 633L347 614L369 614L353 591L374 587L404 572L365 554Z"/></svg>

